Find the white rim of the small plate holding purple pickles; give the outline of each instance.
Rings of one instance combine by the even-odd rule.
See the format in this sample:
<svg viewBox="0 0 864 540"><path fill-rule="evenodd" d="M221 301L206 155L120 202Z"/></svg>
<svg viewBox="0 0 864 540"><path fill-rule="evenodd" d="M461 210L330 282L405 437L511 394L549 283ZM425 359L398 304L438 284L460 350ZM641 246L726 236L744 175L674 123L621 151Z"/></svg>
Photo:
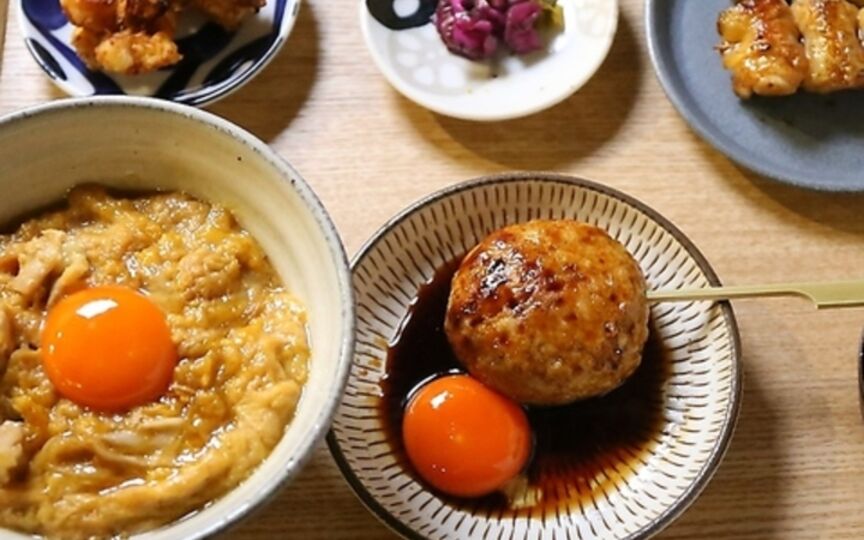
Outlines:
<svg viewBox="0 0 864 540"><path fill-rule="evenodd" d="M24 0L21 0L22 2ZM488 110L478 110L474 114L461 114L454 112L448 109L446 106L440 106L434 101L430 101L424 99L420 92L417 92L413 89L413 87L409 84L404 83L395 73L393 68L391 67L391 63L385 60L385 55L380 53L378 49L375 48L372 42L371 29L369 25L372 22L376 22L375 18L369 13L368 8L366 7L366 2L368 0L359 0L358 4L360 6L359 15L360 15L360 29L363 33L363 42L366 45L366 50L369 51L369 55L372 57L372 61L375 63L375 66L378 68L378 71L384 76L388 83L390 83L393 88L396 89L402 96L409 99L411 102L417 104L424 109L428 109L434 113L441 114L444 116L448 116L451 118L457 118L460 120L474 121L474 122L498 122L503 120L514 120L517 118L524 118L526 116L531 116L533 114L537 114L541 111L545 111L546 109L550 109L555 105L560 104L565 101L567 98L578 92L582 89L588 81L590 81L600 68L603 67L603 64L606 62L606 59L609 57L609 53L612 51L612 46L615 44L615 37L618 35L618 27L620 25L621 20L621 6L619 4L619 0L606 0L612 4L613 13L613 23L612 27L609 29L608 35L606 36L606 42L602 46L601 54L598 55L596 62L591 65L591 68L588 70L587 75L583 78L577 79L572 82L570 85L564 87L561 92L547 94L546 99L538 100L531 107L523 107L523 108L510 108L509 111L504 112L492 112ZM431 24L431 23L430 23Z"/></svg>

